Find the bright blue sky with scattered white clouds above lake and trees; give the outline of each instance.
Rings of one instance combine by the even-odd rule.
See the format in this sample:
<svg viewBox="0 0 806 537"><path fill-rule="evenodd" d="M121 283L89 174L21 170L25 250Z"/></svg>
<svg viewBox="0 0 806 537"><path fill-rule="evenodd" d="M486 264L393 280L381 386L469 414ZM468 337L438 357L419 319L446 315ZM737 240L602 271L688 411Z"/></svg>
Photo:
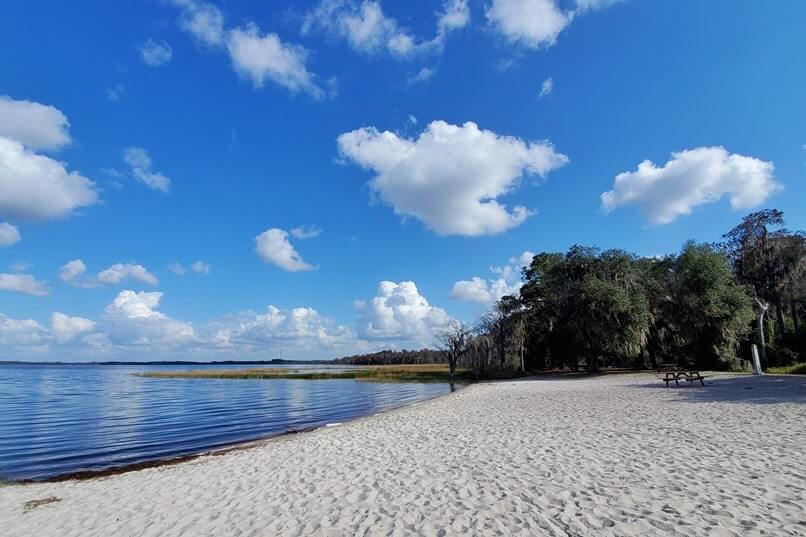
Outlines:
<svg viewBox="0 0 806 537"><path fill-rule="evenodd" d="M0 360L421 348L573 244L806 228L806 3L10 1Z"/></svg>

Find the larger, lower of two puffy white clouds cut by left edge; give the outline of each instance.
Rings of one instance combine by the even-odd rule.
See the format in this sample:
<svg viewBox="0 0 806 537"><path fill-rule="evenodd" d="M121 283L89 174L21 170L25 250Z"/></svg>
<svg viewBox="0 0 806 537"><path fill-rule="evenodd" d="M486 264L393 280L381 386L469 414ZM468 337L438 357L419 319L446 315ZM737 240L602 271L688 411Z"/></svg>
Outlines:
<svg viewBox="0 0 806 537"><path fill-rule="evenodd" d="M0 216L49 220L97 202L95 183L0 136Z"/></svg>

